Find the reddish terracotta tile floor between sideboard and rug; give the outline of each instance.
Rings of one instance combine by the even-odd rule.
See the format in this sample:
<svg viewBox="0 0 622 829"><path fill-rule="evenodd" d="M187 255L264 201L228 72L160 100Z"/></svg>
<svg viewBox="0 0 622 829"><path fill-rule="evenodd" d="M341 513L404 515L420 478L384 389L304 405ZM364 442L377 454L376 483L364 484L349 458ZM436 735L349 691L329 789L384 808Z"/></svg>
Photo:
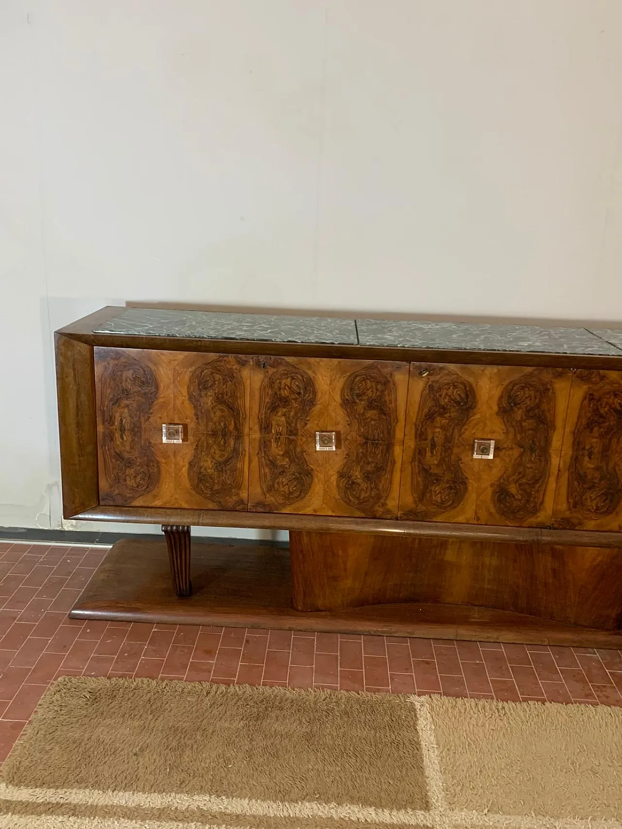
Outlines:
<svg viewBox="0 0 622 829"><path fill-rule="evenodd" d="M622 652L67 618L106 550L0 544L0 761L58 676L622 705Z"/></svg>

